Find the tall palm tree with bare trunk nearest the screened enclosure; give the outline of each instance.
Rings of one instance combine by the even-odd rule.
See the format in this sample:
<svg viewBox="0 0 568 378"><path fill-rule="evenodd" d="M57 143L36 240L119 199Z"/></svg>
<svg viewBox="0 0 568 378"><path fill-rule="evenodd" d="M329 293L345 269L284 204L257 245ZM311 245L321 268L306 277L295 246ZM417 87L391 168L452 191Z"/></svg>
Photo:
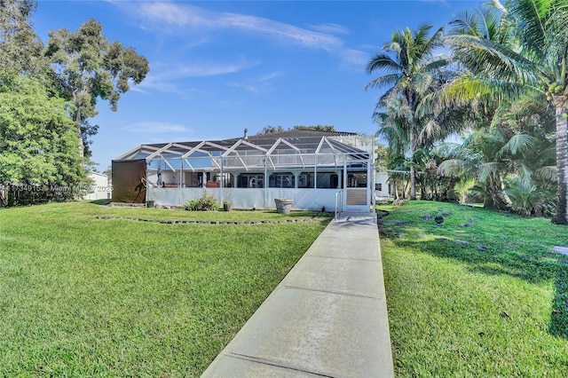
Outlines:
<svg viewBox="0 0 568 378"><path fill-rule="evenodd" d="M377 107L389 106L395 99L400 99L400 106L406 108L406 127L408 153L413 156L420 145L420 133L428 122L416 114L421 98L436 80L439 68L446 67L448 59L434 55L434 50L442 42L442 28L429 37L430 25L422 26L414 32L409 28L398 30L391 36L390 43L383 45L383 51L377 53L367 64L367 73L383 71L386 74L367 83L364 89L386 89L377 103ZM410 198L416 198L416 169L410 166Z"/></svg>

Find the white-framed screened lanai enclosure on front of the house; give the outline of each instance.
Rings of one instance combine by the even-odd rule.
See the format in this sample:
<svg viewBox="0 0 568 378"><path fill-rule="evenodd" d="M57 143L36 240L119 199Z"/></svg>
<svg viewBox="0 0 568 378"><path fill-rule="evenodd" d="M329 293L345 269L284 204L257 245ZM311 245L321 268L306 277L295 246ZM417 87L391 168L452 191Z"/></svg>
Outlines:
<svg viewBox="0 0 568 378"><path fill-rule="evenodd" d="M113 201L179 206L205 192L235 209L370 209L374 138L306 131L138 146L113 161Z"/></svg>

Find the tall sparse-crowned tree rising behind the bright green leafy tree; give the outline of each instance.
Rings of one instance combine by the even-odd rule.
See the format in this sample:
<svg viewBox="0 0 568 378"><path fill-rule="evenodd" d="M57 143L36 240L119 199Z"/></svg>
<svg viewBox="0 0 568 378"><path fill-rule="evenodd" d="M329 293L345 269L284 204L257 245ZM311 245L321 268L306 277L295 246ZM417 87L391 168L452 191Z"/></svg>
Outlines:
<svg viewBox="0 0 568 378"><path fill-rule="evenodd" d="M98 126L88 119L97 114L98 98L108 100L115 111L130 84L141 83L146 77L148 61L132 47L109 43L97 20L86 21L76 32L61 28L49 35L45 56L57 75L59 90L73 105L70 113L81 136L79 143L89 156L89 137L96 134Z"/></svg>

